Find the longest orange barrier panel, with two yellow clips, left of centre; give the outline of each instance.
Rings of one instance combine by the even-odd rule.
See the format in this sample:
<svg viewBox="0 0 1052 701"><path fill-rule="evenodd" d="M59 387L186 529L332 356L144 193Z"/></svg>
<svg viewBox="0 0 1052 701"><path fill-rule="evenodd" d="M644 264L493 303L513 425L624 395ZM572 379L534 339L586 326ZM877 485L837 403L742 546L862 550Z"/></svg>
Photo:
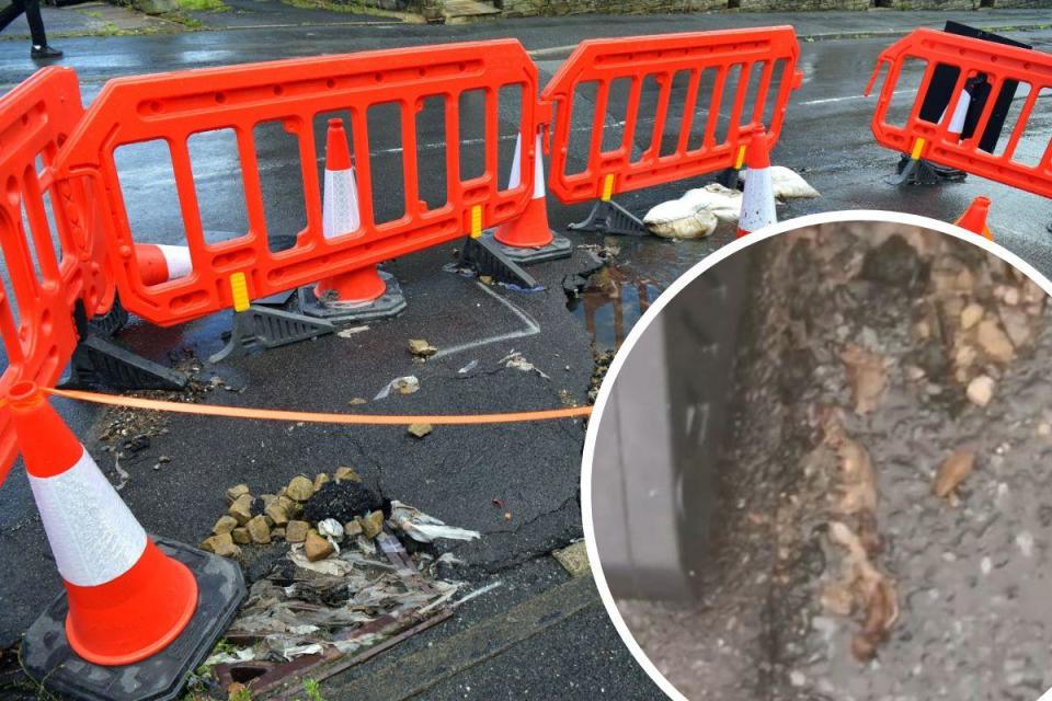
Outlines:
<svg viewBox="0 0 1052 701"><path fill-rule="evenodd" d="M500 104L506 89L522 95L515 115ZM62 149L59 168L64 175L96 183L105 194L106 240L124 306L150 322L171 325L231 307L243 308L251 299L516 217L533 192L533 146L522 159L517 185L502 188L500 123L502 116L505 122L514 118L522 142L533 145L536 94L536 67L514 39L121 78L110 81L92 103ZM445 195L443 202L428 204L421 191L433 183L425 182L418 165L424 145L420 143L416 115L432 100L442 104L438 140L445 151ZM481 113L479 118L462 114L465 105L472 104L472 114ZM369 117L379 107L391 115L381 126L399 137L398 148L388 149L387 156L400 153L400 160L388 170L400 181L403 205L400 216L385 221L374 211L374 195L398 195L374 192L387 188L374 172L376 154L370 149L375 119ZM325 239L316 125L317 119L333 113L350 118L361 223L355 231ZM479 138L461 137L462 123L469 122L481 124ZM268 226L255 136L255 128L265 124L279 125L295 140L306 219L299 231L275 231ZM235 177L243 187L247 230L209 241L198 200L202 185L195 181L203 169L195 166L187 140L216 131L232 133L236 139ZM170 175L193 264L188 275L155 285L146 285L140 277L129 203L114 160L121 147L144 142L159 142L170 156ZM468 147L476 149L473 159L462 157ZM241 205L231 203L231 207ZM295 235L295 245L272 250L273 239L282 235Z"/></svg>

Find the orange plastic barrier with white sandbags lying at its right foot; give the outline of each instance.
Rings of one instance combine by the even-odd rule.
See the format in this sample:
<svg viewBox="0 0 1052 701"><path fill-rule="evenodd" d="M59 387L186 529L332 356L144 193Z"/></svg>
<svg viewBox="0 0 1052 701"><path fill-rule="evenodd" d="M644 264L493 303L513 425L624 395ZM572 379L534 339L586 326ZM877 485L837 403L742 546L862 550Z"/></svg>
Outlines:
<svg viewBox="0 0 1052 701"><path fill-rule="evenodd" d="M609 199L614 193L739 166L754 127L763 125L771 145L777 141L789 94L802 80L798 53L791 26L582 42L541 94L557 111L551 191L565 203ZM681 77L684 102L671 105ZM627 103L624 119L611 125L608 105L619 82ZM573 112L587 102L586 85L595 91L586 107L587 158L582 170L570 172ZM641 114L648 87L658 91L652 123ZM671 107L678 118L670 115ZM615 137L606 147L605 130Z"/></svg>

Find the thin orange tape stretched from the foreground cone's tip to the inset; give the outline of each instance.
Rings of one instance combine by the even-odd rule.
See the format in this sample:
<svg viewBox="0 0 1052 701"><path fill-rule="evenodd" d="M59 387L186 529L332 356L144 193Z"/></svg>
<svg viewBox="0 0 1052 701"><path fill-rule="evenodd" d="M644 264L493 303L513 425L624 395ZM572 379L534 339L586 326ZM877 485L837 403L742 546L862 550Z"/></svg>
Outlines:
<svg viewBox="0 0 1052 701"><path fill-rule="evenodd" d="M229 418L259 418L263 421L301 421L315 424L354 424L374 426L405 426L408 424L434 424L449 426L470 426L477 424L511 424L525 421L550 421L553 418L578 418L588 416L591 406L568 406L537 412L511 412L505 414L333 414L324 412L295 412L278 409L249 409L244 406L216 406L215 404L186 404L165 402L139 397L118 397L80 390L59 390L44 388L44 392L55 397L65 397L81 402L125 406L128 409L150 409L176 414L202 414L205 416L227 416Z"/></svg>

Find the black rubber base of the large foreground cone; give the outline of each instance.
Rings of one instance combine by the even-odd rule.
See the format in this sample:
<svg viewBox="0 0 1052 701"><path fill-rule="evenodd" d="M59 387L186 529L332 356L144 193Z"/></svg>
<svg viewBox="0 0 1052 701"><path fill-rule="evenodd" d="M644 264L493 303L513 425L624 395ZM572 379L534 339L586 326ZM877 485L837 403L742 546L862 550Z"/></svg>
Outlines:
<svg viewBox="0 0 1052 701"><path fill-rule="evenodd" d="M47 691L82 701L168 701L178 699L187 675L208 656L245 597L237 563L182 543L155 538L165 554L194 573L201 591L197 610L180 636L134 665L102 667L77 655L66 640L64 593L36 619L22 642L26 673Z"/></svg>

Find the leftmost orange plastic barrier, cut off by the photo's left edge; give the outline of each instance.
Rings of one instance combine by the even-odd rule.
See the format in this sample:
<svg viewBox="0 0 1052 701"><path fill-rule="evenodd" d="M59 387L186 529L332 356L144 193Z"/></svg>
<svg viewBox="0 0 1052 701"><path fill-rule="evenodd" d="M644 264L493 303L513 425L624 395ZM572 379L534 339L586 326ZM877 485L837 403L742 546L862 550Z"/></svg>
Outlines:
<svg viewBox="0 0 1052 701"><path fill-rule="evenodd" d="M77 74L46 68L0 99L0 335L8 365L0 394L20 381L54 386L77 345L73 308L110 310L101 220L91 183L55 177L54 160L83 114ZM18 453L9 407L0 410L0 482Z"/></svg>

